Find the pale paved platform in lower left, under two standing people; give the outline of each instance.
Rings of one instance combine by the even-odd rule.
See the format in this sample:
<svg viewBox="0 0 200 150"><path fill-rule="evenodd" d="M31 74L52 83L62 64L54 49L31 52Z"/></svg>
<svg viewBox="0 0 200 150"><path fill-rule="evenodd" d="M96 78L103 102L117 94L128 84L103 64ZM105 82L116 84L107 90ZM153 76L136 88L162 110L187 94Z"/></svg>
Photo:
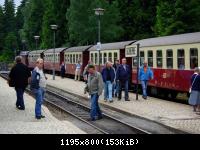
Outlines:
<svg viewBox="0 0 200 150"><path fill-rule="evenodd" d="M85 132L68 121L57 120L43 106L46 118L35 119L35 100L24 94L25 111L15 107L16 93L0 77L0 134L84 134Z"/></svg>

